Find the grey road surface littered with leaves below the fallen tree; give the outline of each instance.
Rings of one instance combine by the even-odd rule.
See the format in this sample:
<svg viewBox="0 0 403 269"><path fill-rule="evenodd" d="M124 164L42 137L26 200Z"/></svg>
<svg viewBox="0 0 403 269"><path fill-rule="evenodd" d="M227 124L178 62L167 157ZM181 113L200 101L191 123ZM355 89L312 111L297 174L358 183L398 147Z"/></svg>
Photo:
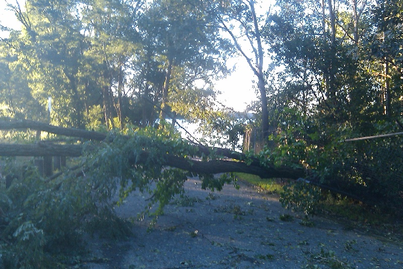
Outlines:
<svg viewBox="0 0 403 269"><path fill-rule="evenodd" d="M121 218L136 218L145 197L133 193L116 208ZM290 214L292 221L280 216ZM87 268L401 268L403 244L381 240L324 218L314 227L281 207L275 196L240 182L221 192L185 182L177 197L148 231L150 220L136 221L125 241L94 240L98 262ZM95 259L94 259L95 260Z"/></svg>

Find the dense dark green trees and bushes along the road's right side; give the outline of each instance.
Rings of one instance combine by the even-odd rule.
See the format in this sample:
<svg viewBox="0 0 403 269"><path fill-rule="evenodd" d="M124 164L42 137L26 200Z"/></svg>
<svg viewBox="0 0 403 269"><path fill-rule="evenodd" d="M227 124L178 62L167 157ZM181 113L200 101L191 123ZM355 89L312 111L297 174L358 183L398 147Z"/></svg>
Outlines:
<svg viewBox="0 0 403 269"><path fill-rule="evenodd" d="M400 139L344 139L401 131L398 2L336 1L330 9L319 2L278 1L263 31L273 52L266 80L273 81L268 96L275 126L264 156L276 165L308 169L313 184L385 208L401 205L395 192L401 177L389 177L400 161L383 151L395 145L393 156L399 156ZM305 212L317 204L299 185L285 194L285 205Z"/></svg>

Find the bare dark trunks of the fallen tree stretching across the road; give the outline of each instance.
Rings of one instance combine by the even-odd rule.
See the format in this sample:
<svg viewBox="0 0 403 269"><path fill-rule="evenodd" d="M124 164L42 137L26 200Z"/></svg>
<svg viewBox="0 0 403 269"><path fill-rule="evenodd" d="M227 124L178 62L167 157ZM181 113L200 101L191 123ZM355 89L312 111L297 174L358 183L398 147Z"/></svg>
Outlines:
<svg viewBox="0 0 403 269"><path fill-rule="evenodd" d="M9 129L31 129L36 131L46 131L53 134L66 137L76 137L87 141L102 142L104 145L113 145L113 142L118 138L125 141L131 139L130 136L121 134L88 131L77 128L64 128L53 126L42 122L31 120L12 120L4 118L0 120L0 130ZM136 136L136 134L134 134ZM153 142L154 141L154 142ZM144 141L143 141L144 142ZM351 198L361 200L368 204L378 204L378 200L368 192L366 186L360 184L350 184L348 181L342 181L338 178L328 178L320 180L315 177L312 171L306 171L301 168L294 167L276 167L267 162L267 160L256 156L249 156L240 152L233 152L228 149L210 148L204 145L195 144L190 141L182 141L187 144L187 152L176 154L170 149L162 149L158 147L155 139L150 138L147 143L156 144L153 149L142 148L140 145L133 145L132 152L128 149L126 159L131 167L136 165L158 165L179 168L193 174L218 174L227 172L242 172L247 174L257 175L261 178L287 178L300 179L307 178L310 174L309 181L303 180L305 183L319 186L323 189L330 190L335 193L340 193ZM111 146L113 147L113 146ZM88 151L97 149L97 145L86 145L86 150L83 143L79 144L57 144L50 141L37 141L32 144L0 144L0 156L70 156L79 157L86 156ZM138 148L135 150L135 148ZM158 161L150 158L151 155L157 153ZM202 156L203 158L192 158L193 156ZM113 158L113 156L111 156ZM331 175L330 175L331 176ZM323 182L326 182L325 184Z"/></svg>

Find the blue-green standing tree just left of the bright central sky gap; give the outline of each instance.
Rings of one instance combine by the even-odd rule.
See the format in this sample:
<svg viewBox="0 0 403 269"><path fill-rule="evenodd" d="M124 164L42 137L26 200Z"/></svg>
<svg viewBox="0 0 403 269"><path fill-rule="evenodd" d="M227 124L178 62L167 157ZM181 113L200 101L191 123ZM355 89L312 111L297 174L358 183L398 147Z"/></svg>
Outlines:
<svg viewBox="0 0 403 269"><path fill-rule="evenodd" d="M156 0L145 8L140 19L145 57L140 59L148 60L148 66L158 63L159 67L153 74L141 69L144 75L151 75L143 89L149 95L153 87L153 101L161 104L161 120L172 118L174 122L177 113L190 119L189 111L195 112L200 106L197 100L213 93L196 84L210 85L212 78L227 72L226 43L221 41L209 9L209 3L203 1ZM189 106L193 108L183 109Z"/></svg>

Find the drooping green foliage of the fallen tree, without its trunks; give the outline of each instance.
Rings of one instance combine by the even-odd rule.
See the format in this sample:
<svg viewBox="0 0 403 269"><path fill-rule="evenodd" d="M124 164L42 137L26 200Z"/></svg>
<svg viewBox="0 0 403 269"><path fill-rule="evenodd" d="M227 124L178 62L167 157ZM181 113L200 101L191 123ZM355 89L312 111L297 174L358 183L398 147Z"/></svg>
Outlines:
<svg viewBox="0 0 403 269"><path fill-rule="evenodd" d="M110 132L104 142L86 143L81 169L64 171L56 178L39 176L32 165L8 166L16 173L11 187L0 196L4 264L52 267L60 262L58 255L83 251L77 246L83 245L84 233L129 236L130 224L115 216L111 203L115 200L119 205L137 190L150 195L139 214L154 217L154 223L171 199L183 194L187 179L187 171L163 166L167 154L187 158L196 152L169 126L131 126L122 133ZM4 172L12 173L10 169ZM235 180L225 174L200 176L202 187L212 190Z"/></svg>

